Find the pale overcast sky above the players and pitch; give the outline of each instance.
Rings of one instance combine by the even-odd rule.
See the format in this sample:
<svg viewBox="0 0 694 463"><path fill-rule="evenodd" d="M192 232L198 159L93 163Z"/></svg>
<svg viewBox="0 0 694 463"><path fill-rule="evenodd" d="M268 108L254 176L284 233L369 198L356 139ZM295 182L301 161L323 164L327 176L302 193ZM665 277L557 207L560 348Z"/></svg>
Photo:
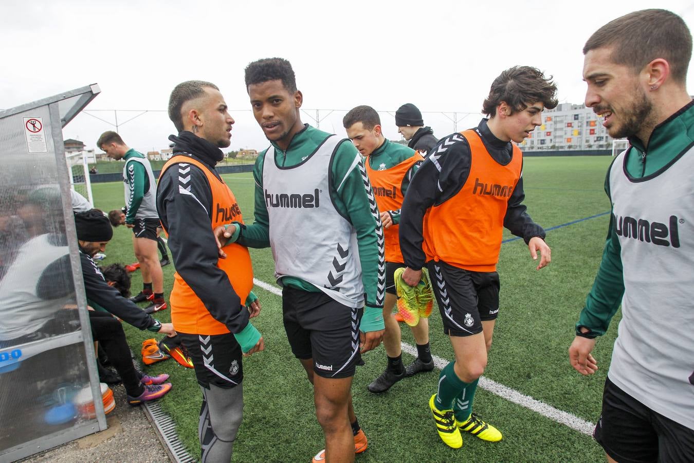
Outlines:
<svg viewBox="0 0 694 463"><path fill-rule="evenodd" d="M250 111L244 67L279 56L294 67L307 110L304 122L316 125L312 117L319 109L325 117L321 129L344 135L344 111L366 104L382 111L385 135L398 140L392 113L409 102L443 137L453 131L452 112L457 112L458 131L477 124L491 82L514 65L553 75L559 101L582 103L586 39L611 19L654 6L641 0L564 5L546 0L3 0L0 108L98 83L101 94L87 114L65 127L64 137L95 148L103 131L115 130L117 117L126 144L159 150L174 133L164 112L171 90L201 79L217 84L233 110L230 149L264 149L269 143ZM657 6L694 28L691 0L663 0ZM688 91L694 92L692 66ZM150 112L127 121L142 112L129 110Z"/></svg>

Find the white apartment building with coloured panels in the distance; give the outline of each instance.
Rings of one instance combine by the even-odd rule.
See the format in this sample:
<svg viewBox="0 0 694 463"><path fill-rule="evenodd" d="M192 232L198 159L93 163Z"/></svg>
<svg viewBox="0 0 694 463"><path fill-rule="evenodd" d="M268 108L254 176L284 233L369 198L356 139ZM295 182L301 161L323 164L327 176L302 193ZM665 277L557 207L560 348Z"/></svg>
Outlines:
<svg viewBox="0 0 694 463"><path fill-rule="evenodd" d="M518 146L523 151L611 149L602 117L585 105L561 103L542 112L542 125Z"/></svg>

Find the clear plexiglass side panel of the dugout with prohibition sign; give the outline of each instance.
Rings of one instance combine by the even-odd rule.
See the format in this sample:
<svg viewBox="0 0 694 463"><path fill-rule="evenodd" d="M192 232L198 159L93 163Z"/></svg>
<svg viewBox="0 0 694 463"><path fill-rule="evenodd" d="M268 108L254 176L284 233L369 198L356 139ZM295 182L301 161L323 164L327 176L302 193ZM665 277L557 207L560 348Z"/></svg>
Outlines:
<svg viewBox="0 0 694 463"><path fill-rule="evenodd" d="M80 99L63 110L78 112ZM76 297L76 236L66 232L62 124L51 120L59 112L49 104L8 112L0 115L0 461L44 450L37 443L47 437L51 445L81 437L96 423L94 407L85 412L94 355Z"/></svg>

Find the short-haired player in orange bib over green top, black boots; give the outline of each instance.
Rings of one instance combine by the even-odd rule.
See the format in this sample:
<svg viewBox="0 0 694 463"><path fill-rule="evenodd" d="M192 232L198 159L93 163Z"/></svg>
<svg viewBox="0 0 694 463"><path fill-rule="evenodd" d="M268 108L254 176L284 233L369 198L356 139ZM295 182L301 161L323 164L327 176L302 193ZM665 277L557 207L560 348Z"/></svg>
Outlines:
<svg viewBox="0 0 694 463"><path fill-rule="evenodd" d="M434 360L429 348L428 319L421 318L416 326L411 327L417 345L417 357L405 369L400 349L400 326L392 314L397 301L393 272L405 267L398 241L400 206L403 204L409 181L424 158L407 146L386 140L381 132L378 112L371 106L353 108L342 119L342 125L359 153L366 157L366 174L369 175L384 228L386 297L383 304L383 346L386 349L388 364L385 371L369 384L369 391L386 392L405 376L434 369Z"/></svg>

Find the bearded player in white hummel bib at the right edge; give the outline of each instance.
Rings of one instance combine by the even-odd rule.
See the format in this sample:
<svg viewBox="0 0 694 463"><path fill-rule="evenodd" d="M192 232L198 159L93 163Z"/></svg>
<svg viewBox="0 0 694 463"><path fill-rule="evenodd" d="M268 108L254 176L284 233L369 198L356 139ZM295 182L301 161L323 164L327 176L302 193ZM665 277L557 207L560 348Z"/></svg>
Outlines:
<svg viewBox="0 0 694 463"><path fill-rule="evenodd" d="M593 437L610 462L691 462L694 103L685 83L692 36L674 13L641 10L599 28L583 53L586 106L630 146L607 171L611 220L570 362L595 373L595 339L621 303Z"/></svg>

